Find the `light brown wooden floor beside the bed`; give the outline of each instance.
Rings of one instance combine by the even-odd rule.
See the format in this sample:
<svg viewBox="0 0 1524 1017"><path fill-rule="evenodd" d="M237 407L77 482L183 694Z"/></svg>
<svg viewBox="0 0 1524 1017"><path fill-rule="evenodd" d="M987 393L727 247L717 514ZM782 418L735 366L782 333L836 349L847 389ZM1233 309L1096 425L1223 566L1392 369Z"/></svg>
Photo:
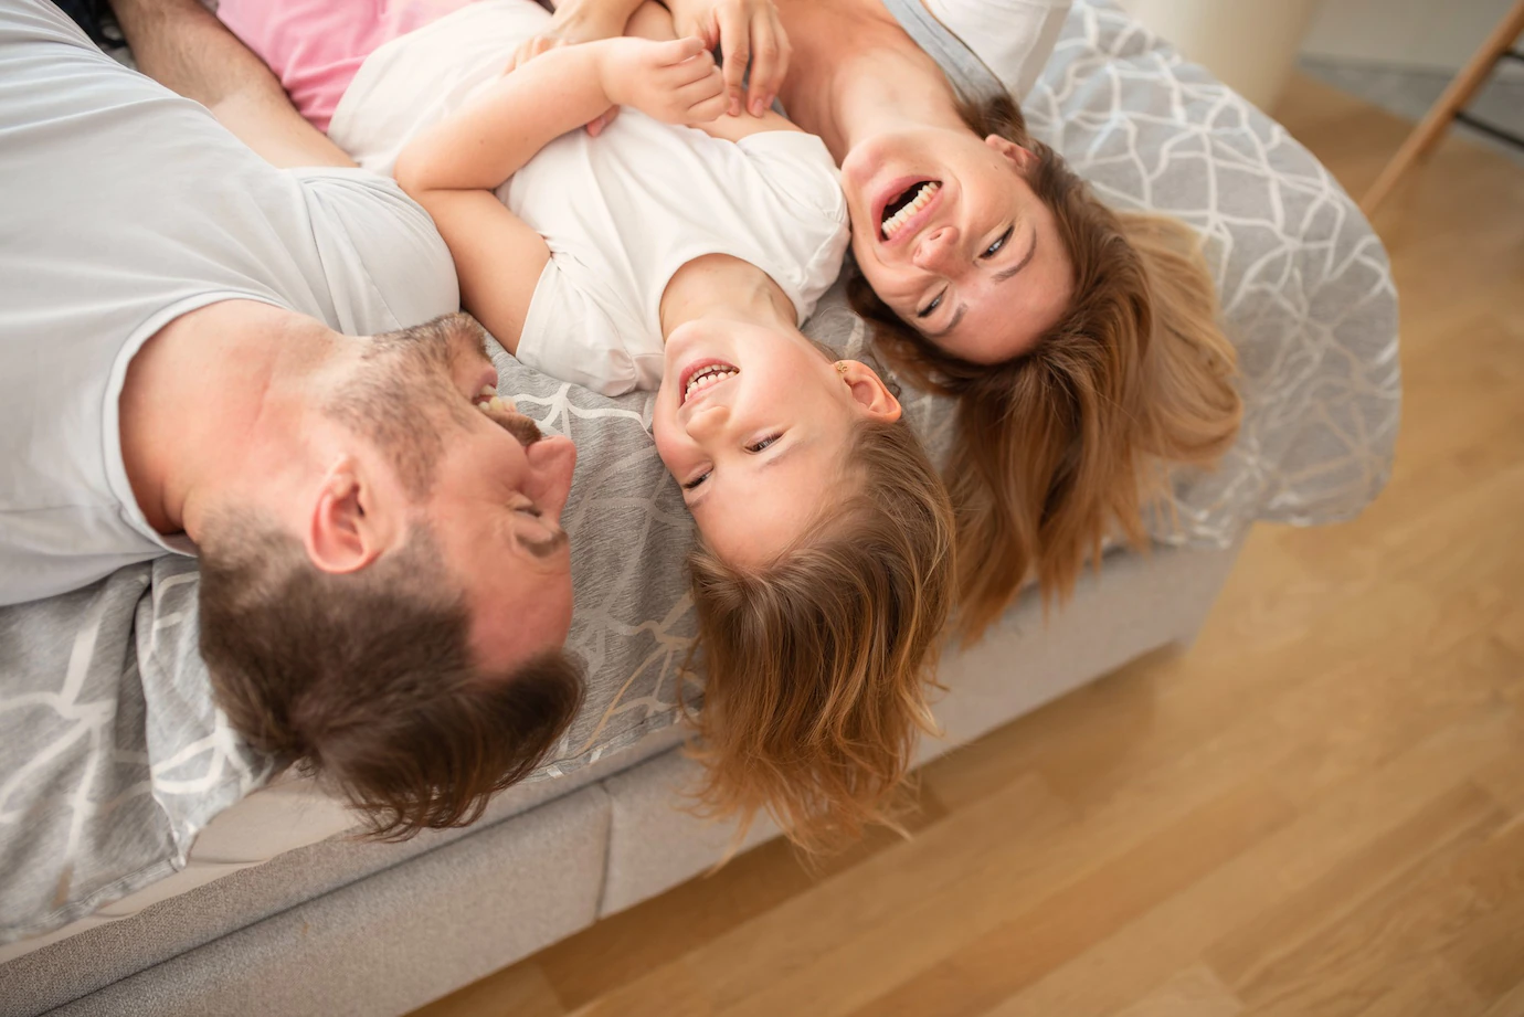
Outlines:
<svg viewBox="0 0 1524 1017"><path fill-rule="evenodd" d="M1359 194L1408 125L1277 110ZM1259 528L1196 646L931 764L908 840L780 845L427 1017L1524 1017L1524 169L1382 207L1405 406L1355 523Z"/></svg>

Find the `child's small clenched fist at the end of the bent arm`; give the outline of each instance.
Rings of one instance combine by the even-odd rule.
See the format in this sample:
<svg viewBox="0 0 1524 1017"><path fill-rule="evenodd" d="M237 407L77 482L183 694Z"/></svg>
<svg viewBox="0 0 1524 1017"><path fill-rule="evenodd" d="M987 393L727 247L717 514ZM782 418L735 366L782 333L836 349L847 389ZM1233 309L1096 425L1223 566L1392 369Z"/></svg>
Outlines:
<svg viewBox="0 0 1524 1017"><path fill-rule="evenodd" d="M664 124L704 124L725 111L725 79L704 40L617 38L599 46L604 95L611 104L632 105Z"/></svg>

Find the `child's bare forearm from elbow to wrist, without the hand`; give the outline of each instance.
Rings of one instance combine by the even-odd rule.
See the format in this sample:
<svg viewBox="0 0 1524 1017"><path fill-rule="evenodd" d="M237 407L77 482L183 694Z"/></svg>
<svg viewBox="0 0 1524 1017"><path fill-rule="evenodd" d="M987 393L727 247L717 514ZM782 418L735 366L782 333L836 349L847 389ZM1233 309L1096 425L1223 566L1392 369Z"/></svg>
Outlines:
<svg viewBox="0 0 1524 1017"><path fill-rule="evenodd" d="M600 43L565 46L501 78L479 101L415 137L396 162L410 194L491 191L541 148L604 113Z"/></svg>

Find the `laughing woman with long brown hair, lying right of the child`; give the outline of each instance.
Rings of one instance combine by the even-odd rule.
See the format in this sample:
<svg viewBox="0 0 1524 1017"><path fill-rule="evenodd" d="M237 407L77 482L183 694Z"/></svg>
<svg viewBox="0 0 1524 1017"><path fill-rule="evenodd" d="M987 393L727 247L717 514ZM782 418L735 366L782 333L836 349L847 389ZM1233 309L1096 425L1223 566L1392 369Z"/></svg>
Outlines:
<svg viewBox="0 0 1524 1017"><path fill-rule="evenodd" d="M556 18L585 26L625 3L567 0ZM1010 96L1067 2L669 6L738 63L788 58L786 76L770 58L753 107L777 88L826 142L852 213L853 306L901 372L957 399L960 634L975 639L1029 575L1062 598L1106 537L1143 543L1169 468L1212 465L1242 404L1196 236L1108 209Z"/></svg>

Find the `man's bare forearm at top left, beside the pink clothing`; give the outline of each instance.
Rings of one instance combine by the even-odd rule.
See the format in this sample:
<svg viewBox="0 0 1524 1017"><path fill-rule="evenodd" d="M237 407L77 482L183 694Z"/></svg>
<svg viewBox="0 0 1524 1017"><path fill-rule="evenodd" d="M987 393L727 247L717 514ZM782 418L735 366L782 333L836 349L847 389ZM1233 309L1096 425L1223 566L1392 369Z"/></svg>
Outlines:
<svg viewBox="0 0 1524 1017"><path fill-rule="evenodd" d="M200 0L113 0L137 69L195 99L276 166L354 166L308 124L264 61Z"/></svg>

